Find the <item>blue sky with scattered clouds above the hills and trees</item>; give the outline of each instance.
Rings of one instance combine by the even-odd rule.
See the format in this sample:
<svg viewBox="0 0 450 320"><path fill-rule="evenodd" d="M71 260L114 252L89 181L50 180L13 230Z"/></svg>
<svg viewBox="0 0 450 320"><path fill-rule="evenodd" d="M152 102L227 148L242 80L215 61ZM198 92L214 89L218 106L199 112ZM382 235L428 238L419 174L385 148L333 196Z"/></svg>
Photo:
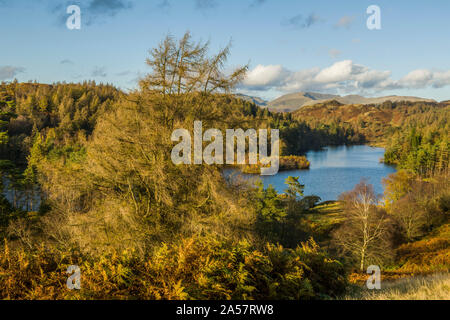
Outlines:
<svg viewBox="0 0 450 320"><path fill-rule="evenodd" d="M81 28L66 26L67 7ZM367 8L380 8L370 30ZM149 49L190 31L249 64L241 93L313 91L450 99L450 1L0 0L0 81L95 80L123 90L150 72Z"/></svg>

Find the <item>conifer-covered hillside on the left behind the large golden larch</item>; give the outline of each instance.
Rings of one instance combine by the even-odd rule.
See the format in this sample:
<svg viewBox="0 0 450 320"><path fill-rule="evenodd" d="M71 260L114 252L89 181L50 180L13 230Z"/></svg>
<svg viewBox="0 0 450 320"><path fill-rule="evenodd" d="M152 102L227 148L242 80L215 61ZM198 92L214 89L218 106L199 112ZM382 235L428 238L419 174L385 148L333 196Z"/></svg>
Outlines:
<svg viewBox="0 0 450 320"><path fill-rule="evenodd" d="M67 136L90 134L98 117L122 93L110 85L2 83L0 85L1 156L26 162L32 138L48 128Z"/></svg>

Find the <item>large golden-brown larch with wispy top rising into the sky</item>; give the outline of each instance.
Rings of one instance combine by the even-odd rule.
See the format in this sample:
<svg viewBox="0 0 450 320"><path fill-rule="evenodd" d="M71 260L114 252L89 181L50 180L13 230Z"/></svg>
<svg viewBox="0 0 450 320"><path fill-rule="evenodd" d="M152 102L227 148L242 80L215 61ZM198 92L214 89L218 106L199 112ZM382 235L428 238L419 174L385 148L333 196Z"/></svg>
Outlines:
<svg viewBox="0 0 450 320"><path fill-rule="evenodd" d="M243 119L228 92L246 67L228 75L229 47L212 57L207 49L189 33L179 42L168 36L151 51L152 70L140 88L98 120L85 159L69 161L68 152L67 160L46 164L44 192L60 208L53 221L79 246L144 253L193 234L243 237L240 230L253 224L245 191L226 184L218 167L176 165L170 157L175 128L192 130L194 120L222 128Z"/></svg>

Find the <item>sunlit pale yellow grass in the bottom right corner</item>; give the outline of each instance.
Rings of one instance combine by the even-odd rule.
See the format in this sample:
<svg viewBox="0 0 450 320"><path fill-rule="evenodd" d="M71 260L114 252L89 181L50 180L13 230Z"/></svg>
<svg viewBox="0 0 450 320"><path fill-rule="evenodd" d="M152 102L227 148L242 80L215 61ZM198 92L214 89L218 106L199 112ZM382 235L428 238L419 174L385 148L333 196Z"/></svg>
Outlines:
<svg viewBox="0 0 450 320"><path fill-rule="evenodd" d="M450 273L381 282L381 290L354 287L343 300L450 300Z"/></svg>

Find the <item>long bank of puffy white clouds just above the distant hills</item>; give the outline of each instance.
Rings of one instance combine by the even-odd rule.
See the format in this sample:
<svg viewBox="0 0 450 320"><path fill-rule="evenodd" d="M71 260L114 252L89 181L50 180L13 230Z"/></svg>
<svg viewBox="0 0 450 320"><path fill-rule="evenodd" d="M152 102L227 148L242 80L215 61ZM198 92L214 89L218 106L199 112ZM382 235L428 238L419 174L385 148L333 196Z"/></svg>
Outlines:
<svg viewBox="0 0 450 320"><path fill-rule="evenodd" d="M290 71L281 65L258 65L243 82L247 90L281 92L379 92L392 89L442 88L450 85L450 71L414 70L400 80L389 70L373 70L343 60L326 68Z"/></svg>

